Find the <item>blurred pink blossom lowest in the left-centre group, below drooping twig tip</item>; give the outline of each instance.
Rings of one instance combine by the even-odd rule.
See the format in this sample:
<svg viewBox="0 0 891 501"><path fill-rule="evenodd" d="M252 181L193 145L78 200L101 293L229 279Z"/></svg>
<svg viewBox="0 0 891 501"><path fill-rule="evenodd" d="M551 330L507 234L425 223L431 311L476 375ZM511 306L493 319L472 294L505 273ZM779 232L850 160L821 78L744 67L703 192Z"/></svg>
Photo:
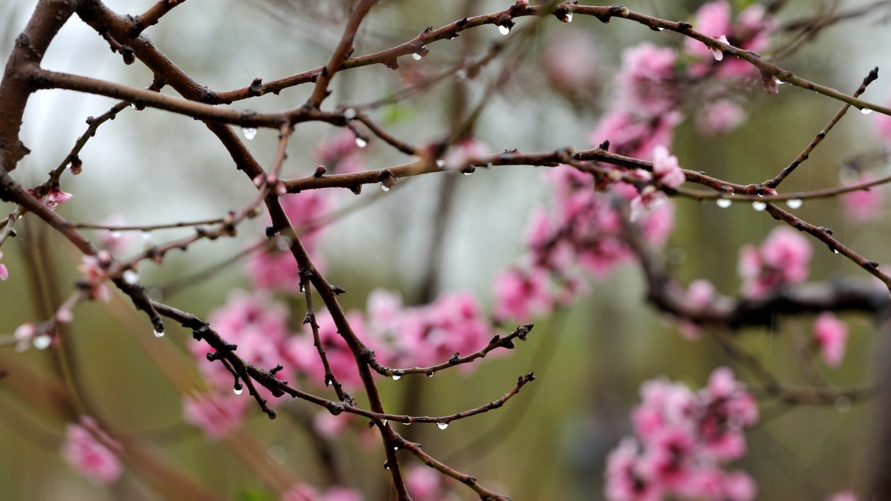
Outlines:
<svg viewBox="0 0 891 501"><path fill-rule="evenodd" d="M251 399L234 394L196 392L183 398L183 417L186 423L198 426L210 439L225 439L241 427L250 403Z"/></svg>

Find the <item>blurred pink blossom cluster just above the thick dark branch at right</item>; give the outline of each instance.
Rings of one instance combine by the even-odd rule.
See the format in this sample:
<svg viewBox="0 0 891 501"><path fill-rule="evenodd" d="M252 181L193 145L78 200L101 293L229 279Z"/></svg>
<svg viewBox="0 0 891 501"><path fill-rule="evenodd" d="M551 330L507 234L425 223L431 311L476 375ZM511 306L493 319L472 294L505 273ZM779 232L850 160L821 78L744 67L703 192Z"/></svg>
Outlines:
<svg viewBox="0 0 891 501"><path fill-rule="evenodd" d="M760 248L740 249L737 271L742 293L757 299L783 285L804 282L812 253L810 242L797 231L786 226L773 229Z"/></svg>

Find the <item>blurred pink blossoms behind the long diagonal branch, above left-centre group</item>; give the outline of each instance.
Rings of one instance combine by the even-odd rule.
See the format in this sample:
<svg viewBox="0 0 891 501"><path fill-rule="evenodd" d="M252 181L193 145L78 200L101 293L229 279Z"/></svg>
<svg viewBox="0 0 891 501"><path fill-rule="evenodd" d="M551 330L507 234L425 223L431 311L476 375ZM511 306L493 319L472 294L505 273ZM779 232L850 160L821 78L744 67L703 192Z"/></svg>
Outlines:
<svg viewBox="0 0 891 501"><path fill-rule="evenodd" d="M318 224L330 209L326 193L323 193L323 190L311 190L279 198L291 225L301 233L300 242L307 248L316 267L322 267L322 262L316 256L316 249L323 229ZM247 271L255 288L290 293L299 292L300 272L297 261L287 246L282 247L266 252L255 252L250 256Z"/></svg>

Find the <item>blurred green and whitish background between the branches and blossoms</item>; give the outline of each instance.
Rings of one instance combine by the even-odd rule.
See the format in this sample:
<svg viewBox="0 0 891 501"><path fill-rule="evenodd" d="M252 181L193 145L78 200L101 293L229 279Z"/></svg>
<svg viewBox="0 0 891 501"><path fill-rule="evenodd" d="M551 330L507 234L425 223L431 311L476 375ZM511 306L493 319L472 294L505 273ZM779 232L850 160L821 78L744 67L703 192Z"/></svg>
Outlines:
<svg viewBox="0 0 891 501"><path fill-rule="evenodd" d="M105 3L116 12L129 14L143 12L153 4L149 0ZM31 0L0 4L0 53L11 51L34 4ZM201 84L218 91L232 90L248 86L254 78L282 78L327 62L339 39L347 4L333 0L190 0L146 34ZM627 6L666 19L690 20L701 4L631 0ZM741 7L749 2L734 4ZM773 44L779 48L789 40L784 26L793 20L833 9L855 11L870 4L791 0L779 14ZM430 25L439 27L465 15L507 6L507 2L488 0L381 2L359 33L356 54L402 43ZM889 13L887 5L876 4L868 15L822 31L780 64L847 93L879 66L879 80L864 98L887 103L889 86L882 71L889 57L883 48L891 42ZM517 22L521 27L534 20ZM376 101L405 82L433 74L462 57L480 57L489 43L501 38L494 26L485 26L454 41L430 45L429 55L421 61L401 58L401 68L396 71L379 65L339 73L326 106L331 109L339 103ZM615 90L611 77L619 68L622 50L642 41L683 45L675 34L650 31L631 22L601 24L576 16L564 25L550 18L541 23L521 58L515 54L496 58L476 78L446 78L427 92L380 107L372 116L396 136L425 144L446 136L455 114L480 103L489 84L501 78L475 128L477 138L491 152L513 148L544 152L568 145L587 148L588 136ZM562 57L568 62L561 61ZM516 67L507 67L506 62ZM549 65L554 64L576 70L580 75L576 82L581 84L565 86L550 81L553 71ZM150 71L139 62L123 65L119 54L110 53L102 37L76 18L53 41L44 66L133 86L151 82ZM764 94L760 83L739 88L749 115L747 122L732 134L711 137L703 136L694 120L688 119L676 131L672 153L683 168L740 184L774 176L795 159L839 107L822 96L789 87L781 86L778 95ZM298 86L233 107L258 111L292 108L305 102L310 89ZM114 103L68 91L33 95L21 133L32 152L14 177L23 185L43 182L46 172L66 158L86 130L86 117L97 116ZM846 162L883 152L873 119L849 113L781 191L839 185ZM312 173L319 163L316 148L339 132L325 124L301 124L290 142L282 177ZM276 133L260 130L248 145L268 167ZM83 174L66 175L62 183L62 188L75 196L58 209L78 222L99 223L114 215L133 225L218 218L248 203L256 193L206 127L167 112L122 111L113 122L100 127L80 157ZM380 141L372 141L364 156L365 168L408 161L411 159ZM883 160L865 168L877 176L887 171ZM470 291L491 308L493 278L524 253L528 216L547 203L550 190L543 182L544 171L532 167L479 169L472 176L455 176L451 181L446 176L402 179L388 193L372 189L374 186L366 186L358 196L347 190L337 193L333 199L337 208L363 204L338 218L321 244L328 278L348 292L341 296L342 304L347 309L363 309L367 293L376 288L401 292L408 304L421 301L429 279L427 270L433 267L437 270L434 297L441 292ZM452 185L447 195L451 209L443 218L444 226L437 226L446 183ZM676 274L685 283L707 278L720 292L736 294L740 246L762 242L779 223L748 204L718 209L714 203L683 199L674 203L676 229L666 245L666 255ZM0 209L6 214L12 206L5 204ZM845 217L835 199L805 201L796 213L814 225L835 229L839 240L862 255L881 263L891 261L887 255L891 242L882 231L887 213L854 222ZM264 226L257 218L241 226L234 238L200 242L187 252L169 254L162 267L143 263L141 282L163 291L184 276L240 253L263 237ZM10 269L9 280L0 283L0 333L4 334L43 318L40 305L67 297L77 279L79 257L67 242L29 218L17 230L19 237L3 247L3 263ZM441 232L438 238L437 232ZM88 234L99 238L97 233ZM135 235L130 252L147 242L159 244L186 234L191 230ZM441 260L432 265L431 245L441 247ZM812 280L846 275L870 278L821 245L814 245L814 250ZM164 300L207 317L225 304L231 291L248 287L244 260L240 260L205 279L177 285ZM302 307L293 306L292 319L298 324ZM871 382L880 344L875 319L863 315L843 319L852 330L846 359L825 375L839 386ZM812 323L813 318L807 316L778 317L770 330L740 332L740 342L783 382L803 383L788 334L809 333ZM69 325L69 340L67 363L76 367L81 391L102 410L113 431L139 440L148 456L159 458L209 492L221 498L277 499L275 480L269 478L276 468L320 489L325 487L312 428L306 425L316 409L308 404L295 403L298 408L293 413L275 421L251 408L245 430L237 438L223 441L208 440L184 423L182 391L171 380L198 377L185 348L190 333L171 326L162 341L155 340L144 316L135 313L129 300L117 298L110 305L78 307L75 321ZM0 368L11 374L29 374L24 387L12 388L12 377L0 381L0 498L166 498L158 489L151 489L138 472L125 472L122 480L110 487L98 486L79 477L61 460L59 447L66 417L53 397L53 388L66 389L45 382L45 374L56 374L61 363L52 351L16 353L12 346L0 348ZM650 308L644 301L641 272L634 266L620 267L593 282L591 292L569 308L536 319L529 340L509 355L487 357L470 374L446 371L422 381L381 381L380 390L388 409L395 412L414 406L421 415L446 415L499 398L511 389L518 374L535 371L535 383L499 410L455 422L446 431L432 426L413 430L413 439L421 441L431 455L517 500L601 499L605 457L632 431L628 414L640 401L642 382L666 376L695 389L721 365L730 365L738 377L751 380L708 336L686 341L672 322ZM761 411L762 423L748 433L748 456L734 465L757 481L758 499L822 499L842 489L867 491L871 443L876 436L874 405L784 407L764 400ZM302 422L299 416L304 417ZM365 423L360 421L353 423L355 432L332 439L331 450L348 472L350 487L362 490L366 499L383 499L388 493L388 477L380 468L380 444L364 436ZM408 455L402 459L405 464L414 462ZM454 492L460 499L473 498L469 489L460 486Z"/></svg>

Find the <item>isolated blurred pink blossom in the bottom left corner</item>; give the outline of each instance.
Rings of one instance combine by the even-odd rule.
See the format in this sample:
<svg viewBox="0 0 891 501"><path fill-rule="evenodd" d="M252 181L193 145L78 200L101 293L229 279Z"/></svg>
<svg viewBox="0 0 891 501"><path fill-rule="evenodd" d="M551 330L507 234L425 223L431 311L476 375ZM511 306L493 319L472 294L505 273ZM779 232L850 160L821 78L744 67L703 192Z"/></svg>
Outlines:
<svg viewBox="0 0 891 501"><path fill-rule="evenodd" d="M93 418L81 416L80 423L65 425L61 455L78 473L97 483L118 480L122 467L118 456L122 449Z"/></svg>

